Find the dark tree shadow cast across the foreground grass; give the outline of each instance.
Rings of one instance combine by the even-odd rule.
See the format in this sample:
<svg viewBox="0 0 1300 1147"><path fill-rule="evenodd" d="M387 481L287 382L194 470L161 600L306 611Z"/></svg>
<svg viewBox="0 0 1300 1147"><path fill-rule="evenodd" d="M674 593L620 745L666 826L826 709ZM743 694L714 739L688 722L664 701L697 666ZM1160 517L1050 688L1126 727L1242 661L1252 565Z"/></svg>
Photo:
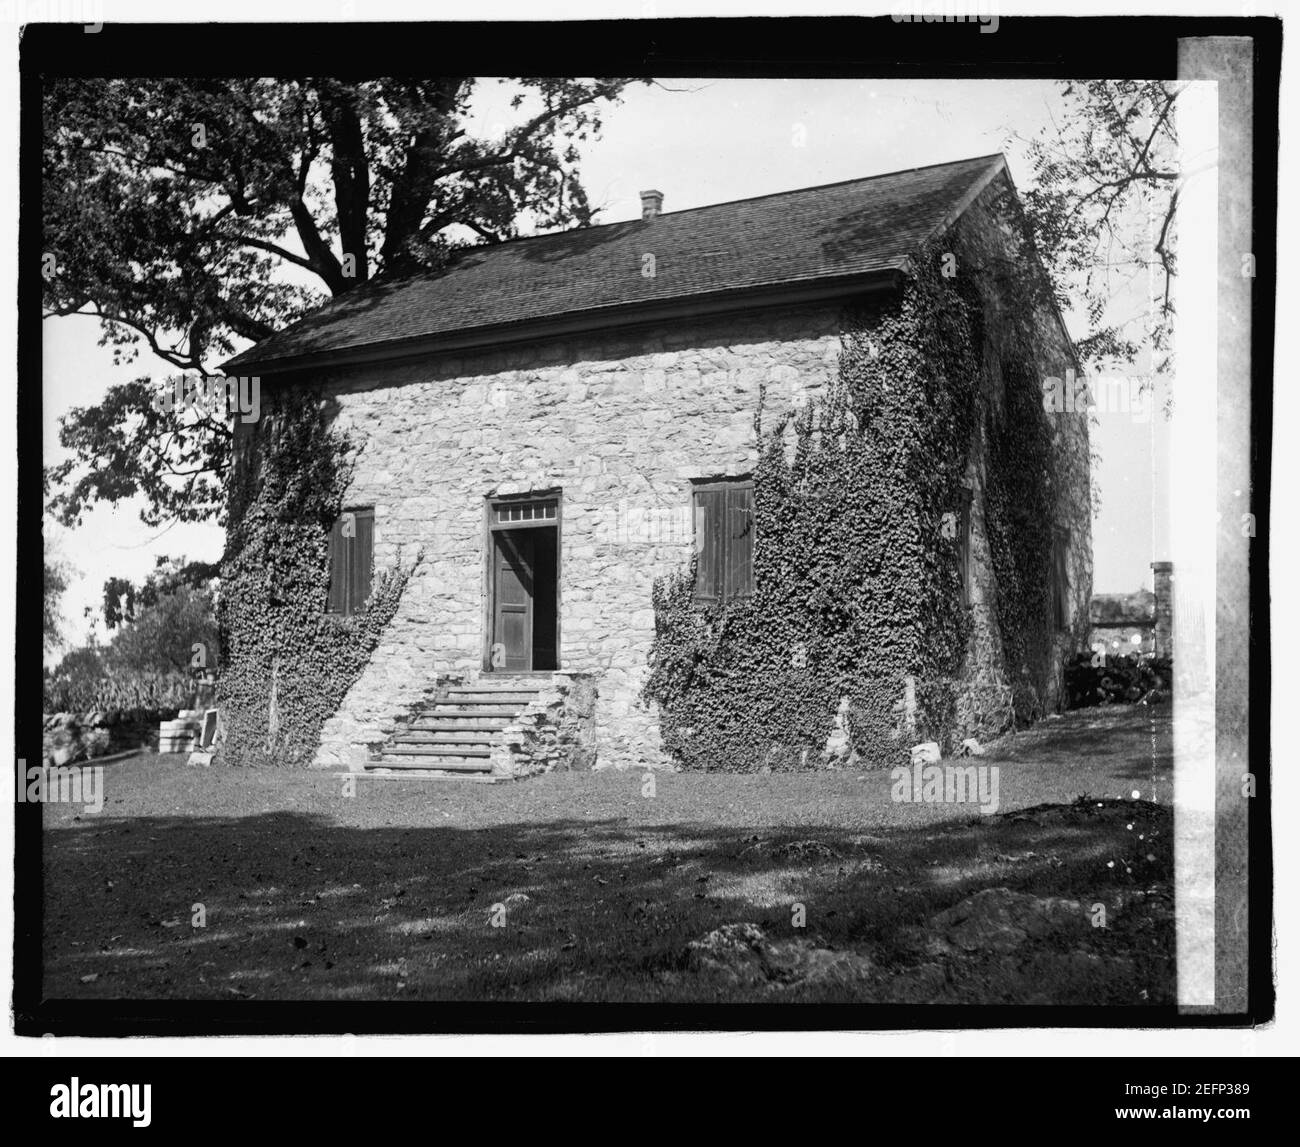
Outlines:
<svg viewBox="0 0 1300 1147"><path fill-rule="evenodd" d="M165 999L771 999L688 974L753 922L868 957L781 999L1167 1003L1169 811L1076 802L872 832L550 819L346 827L278 811L95 817L46 834L46 991ZM1141 839L1139 839L1141 837ZM1080 904L1014 952L936 955L982 890ZM1106 905L1105 929L1092 905ZM797 905L806 926L794 927Z"/></svg>

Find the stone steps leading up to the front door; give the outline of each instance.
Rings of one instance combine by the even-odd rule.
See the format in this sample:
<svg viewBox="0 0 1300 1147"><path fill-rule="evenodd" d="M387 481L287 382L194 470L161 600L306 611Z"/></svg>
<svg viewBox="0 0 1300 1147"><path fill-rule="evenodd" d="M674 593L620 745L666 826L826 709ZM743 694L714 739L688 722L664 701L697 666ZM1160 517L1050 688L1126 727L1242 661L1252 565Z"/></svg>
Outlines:
<svg viewBox="0 0 1300 1147"><path fill-rule="evenodd" d="M389 739L370 756L367 772L404 776L452 776L493 782L493 745L530 701L545 679L498 678L452 685L385 728Z"/></svg>

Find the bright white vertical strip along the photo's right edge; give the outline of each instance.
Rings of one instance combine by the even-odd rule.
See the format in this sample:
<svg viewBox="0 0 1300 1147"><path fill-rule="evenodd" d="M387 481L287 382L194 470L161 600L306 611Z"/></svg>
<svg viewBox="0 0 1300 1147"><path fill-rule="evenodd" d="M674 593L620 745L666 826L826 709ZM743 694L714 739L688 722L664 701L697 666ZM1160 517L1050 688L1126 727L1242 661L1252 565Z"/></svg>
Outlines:
<svg viewBox="0 0 1300 1147"><path fill-rule="evenodd" d="M1214 1005L1214 606L1218 505L1218 85L1178 100L1174 559L1174 905L1178 1003Z"/></svg>

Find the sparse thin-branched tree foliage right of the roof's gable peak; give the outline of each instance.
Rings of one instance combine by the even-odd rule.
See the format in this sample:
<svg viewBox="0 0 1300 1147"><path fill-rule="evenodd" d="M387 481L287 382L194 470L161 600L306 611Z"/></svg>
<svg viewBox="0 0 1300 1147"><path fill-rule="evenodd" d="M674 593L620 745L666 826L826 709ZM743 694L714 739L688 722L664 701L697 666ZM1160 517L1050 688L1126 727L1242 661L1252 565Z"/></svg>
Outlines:
<svg viewBox="0 0 1300 1147"><path fill-rule="evenodd" d="M1058 304L1086 307L1089 329L1076 345L1086 363L1131 363L1145 345L1153 372L1169 367L1179 91L1158 79L1067 82L1063 121L1028 140L1035 186L1023 196L1026 216ZM1117 299L1140 278L1150 282L1149 306L1117 315ZM1136 323L1145 329L1135 332Z"/></svg>

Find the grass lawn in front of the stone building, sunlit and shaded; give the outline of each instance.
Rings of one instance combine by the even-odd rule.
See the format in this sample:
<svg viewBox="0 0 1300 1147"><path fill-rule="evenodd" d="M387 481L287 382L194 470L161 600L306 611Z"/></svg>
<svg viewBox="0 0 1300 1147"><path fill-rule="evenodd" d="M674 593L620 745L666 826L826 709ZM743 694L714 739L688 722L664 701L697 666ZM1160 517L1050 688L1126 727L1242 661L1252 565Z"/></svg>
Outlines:
<svg viewBox="0 0 1300 1147"><path fill-rule="evenodd" d="M998 766L997 814L896 802L887 770L348 797L134 757L101 813L44 806L46 994L1171 1003L1169 709L1067 714L970 763ZM1050 910L1018 919L1023 893Z"/></svg>

